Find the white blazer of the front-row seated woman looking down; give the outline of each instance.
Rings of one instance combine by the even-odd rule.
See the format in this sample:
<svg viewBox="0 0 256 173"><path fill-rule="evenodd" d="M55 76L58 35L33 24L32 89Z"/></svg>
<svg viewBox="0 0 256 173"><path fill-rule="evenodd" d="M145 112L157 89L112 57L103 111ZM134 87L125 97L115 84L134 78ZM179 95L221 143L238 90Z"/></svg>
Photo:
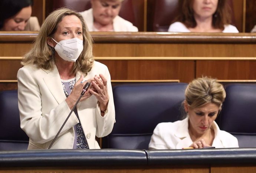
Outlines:
<svg viewBox="0 0 256 173"><path fill-rule="evenodd" d="M239 147L236 137L219 129L216 122L212 124L214 130L213 145L216 148ZM188 133L188 117L173 123L159 123L151 136L149 149L182 149L189 147L192 140Z"/></svg>

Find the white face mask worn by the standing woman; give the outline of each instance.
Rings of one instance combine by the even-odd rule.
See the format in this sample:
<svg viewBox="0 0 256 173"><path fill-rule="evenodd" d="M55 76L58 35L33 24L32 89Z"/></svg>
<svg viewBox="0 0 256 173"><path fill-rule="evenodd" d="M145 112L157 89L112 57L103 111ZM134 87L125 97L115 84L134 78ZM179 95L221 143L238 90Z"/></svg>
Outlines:
<svg viewBox="0 0 256 173"><path fill-rule="evenodd" d="M52 38L53 39L53 38ZM55 41L53 39L53 41ZM65 61L75 62L83 51L83 40L78 38L61 40L57 44L55 50Z"/></svg>

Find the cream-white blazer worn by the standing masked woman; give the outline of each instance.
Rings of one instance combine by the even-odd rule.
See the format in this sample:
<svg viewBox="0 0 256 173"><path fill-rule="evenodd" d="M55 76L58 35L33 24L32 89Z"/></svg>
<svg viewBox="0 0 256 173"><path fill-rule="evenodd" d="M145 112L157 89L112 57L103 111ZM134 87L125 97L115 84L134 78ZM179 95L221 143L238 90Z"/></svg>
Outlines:
<svg viewBox="0 0 256 173"><path fill-rule="evenodd" d="M95 96L79 102L76 106L89 149L99 149L95 136L108 135L115 123L108 68L95 61L84 80L94 77L95 74L103 74L108 80L109 103L104 117L101 116ZM81 73L76 74L76 81L80 75ZM58 69L56 66L53 70L24 66L19 69L17 79L20 127L30 138L28 149L47 149L70 112L65 102L66 96ZM75 137L73 126L77 123L78 118L73 112L51 149L72 149Z"/></svg>

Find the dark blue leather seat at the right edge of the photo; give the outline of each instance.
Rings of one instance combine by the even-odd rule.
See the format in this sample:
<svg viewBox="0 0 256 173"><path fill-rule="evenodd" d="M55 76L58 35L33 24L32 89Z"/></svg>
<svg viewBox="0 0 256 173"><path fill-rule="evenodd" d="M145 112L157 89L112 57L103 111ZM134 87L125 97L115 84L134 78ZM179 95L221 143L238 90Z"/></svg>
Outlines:
<svg viewBox="0 0 256 173"><path fill-rule="evenodd" d="M256 147L256 84L228 84L219 126L237 137L239 147Z"/></svg>

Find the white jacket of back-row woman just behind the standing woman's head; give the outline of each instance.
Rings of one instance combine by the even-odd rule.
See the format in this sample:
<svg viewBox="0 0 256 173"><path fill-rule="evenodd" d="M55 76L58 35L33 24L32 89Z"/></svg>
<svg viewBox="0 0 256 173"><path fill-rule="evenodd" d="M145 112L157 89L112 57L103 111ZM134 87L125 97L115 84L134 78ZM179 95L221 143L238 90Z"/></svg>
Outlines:
<svg viewBox="0 0 256 173"><path fill-rule="evenodd" d="M88 26L89 31L93 31L93 13L92 9L79 12L83 19L85 20L86 25ZM115 32L138 32L138 28L133 26L131 22L123 19L120 16L116 16L113 20L113 27Z"/></svg>

